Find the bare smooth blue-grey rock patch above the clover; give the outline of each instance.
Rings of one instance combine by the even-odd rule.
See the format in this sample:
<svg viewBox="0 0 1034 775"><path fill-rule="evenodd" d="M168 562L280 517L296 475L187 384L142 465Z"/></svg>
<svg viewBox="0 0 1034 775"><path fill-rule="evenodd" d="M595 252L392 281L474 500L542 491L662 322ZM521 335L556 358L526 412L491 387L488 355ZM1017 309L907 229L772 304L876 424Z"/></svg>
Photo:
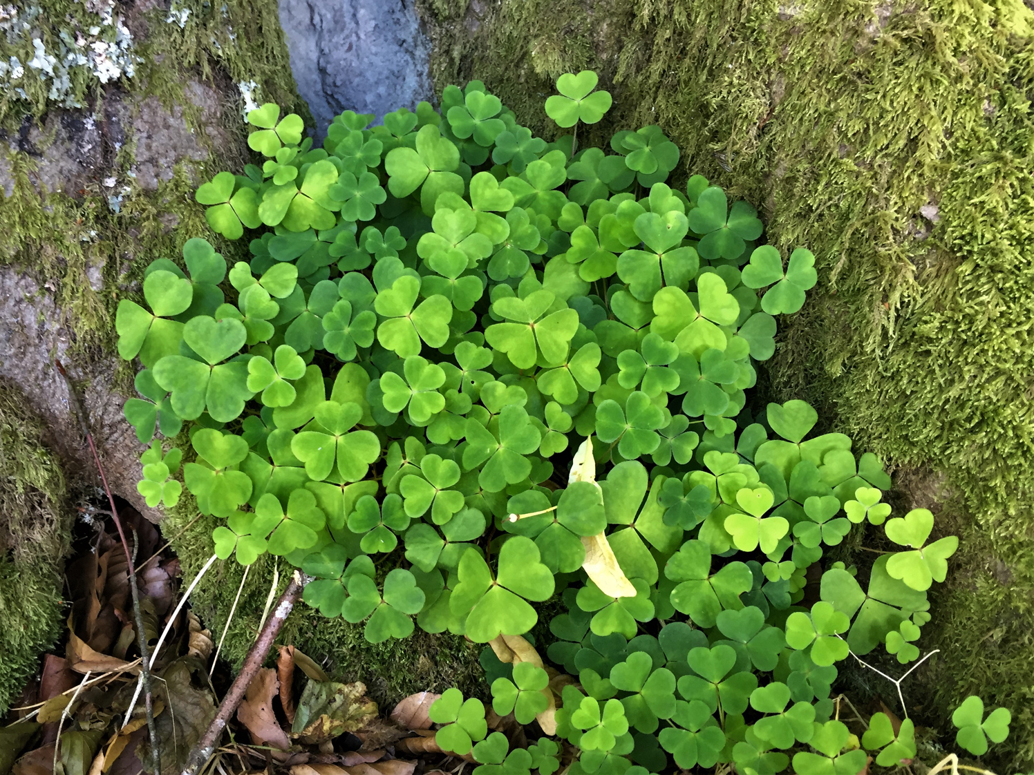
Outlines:
<svg viewBox="0 0 1034 775"><path fill-rule="evenodd" d="M317 138L342 111L381 118L431 98L431 44L414 0L279 0L279 7Z"/></svg>

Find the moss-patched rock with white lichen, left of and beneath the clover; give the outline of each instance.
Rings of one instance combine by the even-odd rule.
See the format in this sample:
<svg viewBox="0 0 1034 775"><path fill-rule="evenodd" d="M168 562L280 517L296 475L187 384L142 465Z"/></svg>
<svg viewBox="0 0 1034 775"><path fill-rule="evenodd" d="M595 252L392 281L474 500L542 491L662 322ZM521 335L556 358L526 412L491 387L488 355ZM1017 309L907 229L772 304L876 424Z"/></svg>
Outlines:
<svg viewBox="0 0 1034 775"><path fill-rule="evenodd" d="M135 490L143 446L122 416L133 375L115 354L118 300L139 292L148 262L179 259L192 237L206 237L230 261L247 257L246 241L212 234L193 191L220 169L252 160L243 123L249 100L275 101L306 118L308 111L295 89L275 0L176 0L172 6L43 0L18 12L28 28L12 25L10 36L0 35L0 62L16 57L23 65L18 80L0 72L6 140L0 151L0 320L9 329L0 338L0 376L33 386L23 403L42 415L69 476L93 485L93 461L53 367L60 359L83 395L116 495L160 519ZM99 31L91 33L93 27ZM62 64L78 62L65 57L95 39L116 44L118 74L94 57ZM175 536L188 523L173 519L163 529ZM211 553L212 527L199 522L174 544L188 580ZM0 564L0 605L7 605L9 570ZM282 588L286 569L280 570ZM19 583L42 585L20 572ZM194 610L213 631L221 632L242 572L236 562L221 563L193 594ZM235 664L254 640L273 575L272 563L250 571L223 645ZM38 600L59 606L60 587L49 583ZM0 614L6 621L6 611ZM31 672L39 646L56 633L55 616L34 620L45 632L18 652L24 664L0 681L0 698ZM27 633L19 643L30 640ZM461 639L425 636L373 647L361 627L329 622L304 606L280 642L336 675L366 681L382 703L453 684L470 689L481 681L478 651Z"/></svg>

